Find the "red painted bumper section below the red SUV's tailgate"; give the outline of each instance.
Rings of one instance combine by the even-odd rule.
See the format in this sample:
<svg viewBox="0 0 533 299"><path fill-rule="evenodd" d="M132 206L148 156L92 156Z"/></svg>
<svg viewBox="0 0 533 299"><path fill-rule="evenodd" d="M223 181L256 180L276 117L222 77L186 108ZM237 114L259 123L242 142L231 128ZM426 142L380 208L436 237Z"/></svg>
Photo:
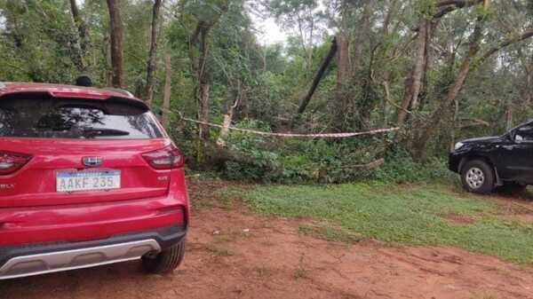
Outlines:
<svg viewBox="0 0 533 299"><path fill-rule="evenodd" d="M105 239L188 223L183 169L172 170L172 192L132 201L0 209L0 246ZM0 199L2 201L2 199ZM183 209L183 212L179 211Z"/></svg>

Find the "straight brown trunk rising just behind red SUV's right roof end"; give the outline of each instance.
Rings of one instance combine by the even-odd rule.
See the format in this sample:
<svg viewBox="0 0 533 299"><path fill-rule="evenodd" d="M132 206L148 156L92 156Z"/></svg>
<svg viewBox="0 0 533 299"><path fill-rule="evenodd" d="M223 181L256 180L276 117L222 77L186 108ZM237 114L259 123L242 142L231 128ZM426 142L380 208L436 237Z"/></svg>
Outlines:
<svg viewBox="0 0 533 299"><path fill-rule="evenodd" d="M109 28L111 35L111 65L113 67L113 86L125 87L123 62L123 22L120 13L120 0L107 0L109 9Z"/></svg>

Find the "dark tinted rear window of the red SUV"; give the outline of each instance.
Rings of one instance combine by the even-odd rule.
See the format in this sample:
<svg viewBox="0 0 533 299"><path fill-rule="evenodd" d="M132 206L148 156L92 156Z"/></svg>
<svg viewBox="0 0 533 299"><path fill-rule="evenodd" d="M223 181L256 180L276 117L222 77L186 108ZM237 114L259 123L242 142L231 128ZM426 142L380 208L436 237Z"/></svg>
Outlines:
<svg viewBox="0 0 533 299"><path fill-rule="evenodd" d="M146 107L120 98L106 101L16 95L0 98L0 137L163 138Z"/></svg>

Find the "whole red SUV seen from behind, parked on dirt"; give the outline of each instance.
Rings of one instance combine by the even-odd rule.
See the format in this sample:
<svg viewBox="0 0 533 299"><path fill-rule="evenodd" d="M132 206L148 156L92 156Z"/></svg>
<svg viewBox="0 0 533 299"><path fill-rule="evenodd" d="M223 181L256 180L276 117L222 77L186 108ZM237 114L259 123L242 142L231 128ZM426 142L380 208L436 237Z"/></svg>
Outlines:
<svg viewBox="0 0 533 299"><path fill-rule="evenodd" d="M141 259L178 267L184 157L123 90L0 83L0 279Z"/></svg>

